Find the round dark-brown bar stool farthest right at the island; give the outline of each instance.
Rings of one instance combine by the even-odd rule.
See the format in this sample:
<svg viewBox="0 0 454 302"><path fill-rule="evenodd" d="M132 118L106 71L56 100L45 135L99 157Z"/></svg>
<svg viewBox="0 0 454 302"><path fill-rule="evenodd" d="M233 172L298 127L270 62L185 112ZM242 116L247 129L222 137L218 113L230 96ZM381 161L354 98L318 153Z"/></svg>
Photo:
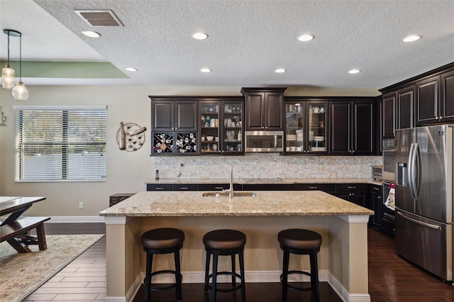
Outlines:
<svg viewBox="0 0 454 302"><path fill-rule="evenodd" d="M282 264L282 301L287 301L287 289L297 289L299 291L314 290L315 301L320 301L319 291L319 267L317 264L317 253L320 251L321 235L311 230L288 229L282 230L277 235L279 245L284 251ZM309 255L311 262L311 272L289 271L290 254ZM311 286L300 287L288 283L289 274L304 274L311 277Z"/></svg>

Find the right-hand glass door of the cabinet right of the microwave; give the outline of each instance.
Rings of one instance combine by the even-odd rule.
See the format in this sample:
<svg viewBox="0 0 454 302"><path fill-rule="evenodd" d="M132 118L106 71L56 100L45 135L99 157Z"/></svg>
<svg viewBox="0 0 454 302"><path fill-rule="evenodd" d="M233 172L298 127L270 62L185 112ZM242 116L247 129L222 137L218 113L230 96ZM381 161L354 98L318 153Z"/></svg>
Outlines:
<svg viewBox="0 0 454 302"><path fill-rule="evenodd" d="M328 152L326 145L326 113L328 103L307 103L309 146L307 152Z"/></svg>

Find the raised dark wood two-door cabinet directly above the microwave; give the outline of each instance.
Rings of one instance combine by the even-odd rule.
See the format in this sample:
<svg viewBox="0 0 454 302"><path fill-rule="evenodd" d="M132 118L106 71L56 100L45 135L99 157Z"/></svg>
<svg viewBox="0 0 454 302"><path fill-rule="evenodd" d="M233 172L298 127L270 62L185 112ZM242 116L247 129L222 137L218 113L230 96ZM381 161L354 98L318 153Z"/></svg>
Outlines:
<svg viewBox="0 0 454 302"><path fill-rule="evenodd" d="M242 88L245 96L245 130L284 130L284 91L287 88Z"/></svg>

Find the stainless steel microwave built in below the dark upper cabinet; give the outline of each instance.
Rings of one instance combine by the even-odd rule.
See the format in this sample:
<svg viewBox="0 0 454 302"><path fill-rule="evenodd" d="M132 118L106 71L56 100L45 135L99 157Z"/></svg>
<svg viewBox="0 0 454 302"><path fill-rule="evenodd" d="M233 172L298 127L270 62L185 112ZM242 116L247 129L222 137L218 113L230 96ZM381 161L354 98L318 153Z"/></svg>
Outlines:
<svg viewBox="0 0 454 302"><path fill-rule="evenodd" d="M283 152L284 131L246 131L246 152Z"/></svg>

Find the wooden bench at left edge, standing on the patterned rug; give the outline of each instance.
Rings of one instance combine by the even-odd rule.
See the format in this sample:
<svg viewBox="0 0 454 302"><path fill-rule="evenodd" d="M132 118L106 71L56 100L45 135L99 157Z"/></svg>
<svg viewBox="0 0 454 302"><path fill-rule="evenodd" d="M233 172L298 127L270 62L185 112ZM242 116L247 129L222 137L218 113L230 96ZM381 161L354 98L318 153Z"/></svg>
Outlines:
<svg viewBox="0 0 454 302"><path fill-rule="evenodd" d="M45 241L44 222L50 217L24 217L13 223L0 226L0 242L8 241L18 252L31 252L28 245L39 245L45 250L48 245ZM28 235L28 231L36 229L37 236Z"/></svg>

